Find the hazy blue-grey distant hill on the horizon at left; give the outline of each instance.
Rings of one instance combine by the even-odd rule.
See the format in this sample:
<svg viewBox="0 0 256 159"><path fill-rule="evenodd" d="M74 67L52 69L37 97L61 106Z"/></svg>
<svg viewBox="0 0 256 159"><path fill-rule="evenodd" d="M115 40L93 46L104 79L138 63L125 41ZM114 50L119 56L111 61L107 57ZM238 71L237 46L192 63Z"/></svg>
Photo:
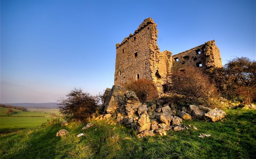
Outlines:
<svg viewBox="0 0 256 159"><path fill-rule="evenodd" d="M58 103L4 103L4 105L25 107L25 108L57 108Z"/></svg>

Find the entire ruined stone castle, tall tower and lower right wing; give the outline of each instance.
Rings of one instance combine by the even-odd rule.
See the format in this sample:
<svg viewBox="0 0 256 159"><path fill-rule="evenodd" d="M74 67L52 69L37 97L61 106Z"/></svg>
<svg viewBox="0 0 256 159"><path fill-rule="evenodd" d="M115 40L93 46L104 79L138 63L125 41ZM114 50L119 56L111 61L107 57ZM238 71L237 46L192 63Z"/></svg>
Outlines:
<svg viewBox="0 0 256 159"><path fill-rule="evenodd" d="M147 18L133 34L116 44L115 86L122 87L131 79L146 78L163 92L166 77L174 68L181 71L186 67L198 67L206 71L211 67L222 67L214 40L172 56L170 51L160 52L157 33L157 24Z"/></svg>

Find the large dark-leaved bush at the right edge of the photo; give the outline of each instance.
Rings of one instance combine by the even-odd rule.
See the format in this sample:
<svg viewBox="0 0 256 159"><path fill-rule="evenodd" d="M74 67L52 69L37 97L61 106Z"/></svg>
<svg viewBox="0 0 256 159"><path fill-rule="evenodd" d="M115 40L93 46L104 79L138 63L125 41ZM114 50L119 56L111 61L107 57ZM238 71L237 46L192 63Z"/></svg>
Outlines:
<svg viewBox="0 0 256 159"><path fill-rule="evenodd" d="M223 68L213 68L210 76L223 97L245 104L256 100L256 61L236 57Z"/></svg>

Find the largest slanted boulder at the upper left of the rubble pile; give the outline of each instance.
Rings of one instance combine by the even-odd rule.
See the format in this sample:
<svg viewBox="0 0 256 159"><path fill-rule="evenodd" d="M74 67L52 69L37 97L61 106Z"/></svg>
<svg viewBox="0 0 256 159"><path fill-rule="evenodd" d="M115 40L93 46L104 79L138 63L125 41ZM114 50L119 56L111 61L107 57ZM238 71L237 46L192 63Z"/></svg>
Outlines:
<svg viewBox="0 0 256 159"><path fill-rule="evenodd" d="M123 100L124 94L127 92L127 90L118 86L113 86L111 91L109 91L109 88L107 88L102 99L105 101L105 112L113 114L119 107L119 102Z"/></svg>

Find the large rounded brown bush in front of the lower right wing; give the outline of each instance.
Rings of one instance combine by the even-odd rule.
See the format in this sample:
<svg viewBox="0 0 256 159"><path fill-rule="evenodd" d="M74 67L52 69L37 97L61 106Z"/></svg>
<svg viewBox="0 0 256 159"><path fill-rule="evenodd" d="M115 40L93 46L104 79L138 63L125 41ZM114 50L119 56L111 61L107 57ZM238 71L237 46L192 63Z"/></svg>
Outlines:
<svg viewBox="0 0 256 159"><path fill-rule="evenodd" d="M176 99L191 104L205 105L217 98L217 90L210 79L194 67L174 72L167 78L166 88L166 91L176 96Z"/></svg>

